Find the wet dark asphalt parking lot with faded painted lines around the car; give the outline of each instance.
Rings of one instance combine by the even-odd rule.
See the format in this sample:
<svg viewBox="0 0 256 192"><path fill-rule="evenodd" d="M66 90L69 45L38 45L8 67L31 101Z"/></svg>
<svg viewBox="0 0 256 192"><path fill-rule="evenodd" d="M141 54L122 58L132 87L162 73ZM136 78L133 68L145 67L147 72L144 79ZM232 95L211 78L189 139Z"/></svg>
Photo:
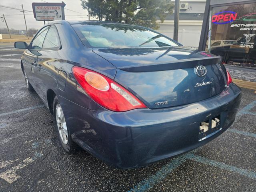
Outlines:
<svg viewBox="0 0 256 192"><path fill-rule="evenodd" d="M242 88L234 124L207 145L152 166L119 170L66 154L54 120L26 89L22 50L0 45L0 191L256 191L256 90Z"/></svg>

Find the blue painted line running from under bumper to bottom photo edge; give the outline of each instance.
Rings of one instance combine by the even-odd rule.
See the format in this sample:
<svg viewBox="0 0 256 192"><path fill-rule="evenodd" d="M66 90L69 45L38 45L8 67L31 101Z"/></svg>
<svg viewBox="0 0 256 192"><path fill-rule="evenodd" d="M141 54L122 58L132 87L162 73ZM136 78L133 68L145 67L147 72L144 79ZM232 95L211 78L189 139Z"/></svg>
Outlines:
<svg viewBox="0 0 256 192"><path fill-rule="evenodd" d="M134 188L130 189L128 192L144 192L144 191L148 191L155 184L157 184L160 181L164 180L168 176L168 174L170 174L173 170L178 168L178 166L180 166L186 160L187 160L187 158L184 155L179 156L178 158L175 158L170 163L164 165L154 175L150 176L148 179L145 179L145 180L141 181Z"/></svg>

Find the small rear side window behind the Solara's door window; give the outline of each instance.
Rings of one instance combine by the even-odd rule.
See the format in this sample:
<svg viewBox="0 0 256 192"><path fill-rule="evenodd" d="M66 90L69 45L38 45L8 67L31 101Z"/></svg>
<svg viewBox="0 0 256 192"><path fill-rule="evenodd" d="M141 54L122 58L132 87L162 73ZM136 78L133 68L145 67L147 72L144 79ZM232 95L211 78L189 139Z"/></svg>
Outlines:
<svg viewBox="0 0 256 192"><path fill-rule="evenodd" d="M58 32L54 26L51 26L46 34L43 49L58 49L60 48L60 40Z"/></svg>

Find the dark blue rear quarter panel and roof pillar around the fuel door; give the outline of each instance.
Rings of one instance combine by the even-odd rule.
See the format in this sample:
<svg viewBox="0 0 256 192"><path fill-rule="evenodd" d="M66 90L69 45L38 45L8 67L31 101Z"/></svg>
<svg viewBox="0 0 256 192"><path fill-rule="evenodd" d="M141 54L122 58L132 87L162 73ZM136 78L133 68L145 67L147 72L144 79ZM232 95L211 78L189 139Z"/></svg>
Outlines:
<svg viewBox="0 0 256 192"><path fill-rule="evenodd" d="M110 78L114 78L116 68L102 57L86 48L74 30L67 22L55 24L61 42L58 50L41 50L38 56L36 82L38 95L47 103L47 92L53 90L58 97L66 98L80 106L95 110L96 104L77 84L73 74L73 66L81 66L98 71ZM40 67L39 67L40 65ZM65 90L58 88L58 72L66 73Z"/></svg>

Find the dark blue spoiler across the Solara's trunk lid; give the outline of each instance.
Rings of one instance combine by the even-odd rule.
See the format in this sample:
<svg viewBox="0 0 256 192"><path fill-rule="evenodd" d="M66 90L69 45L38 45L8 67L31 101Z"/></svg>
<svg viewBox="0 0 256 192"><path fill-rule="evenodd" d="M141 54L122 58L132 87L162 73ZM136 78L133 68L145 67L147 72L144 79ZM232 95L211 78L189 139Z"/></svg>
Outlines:
<svg viewBox="0 0 256 192"><path fill-rule="evenodd" d="M185 69L192 68L198 65L212 65L222 62L222 57L212 56L212 57L202 57L202 58L190 58L174 60L170 62L158 62L147 65L132 65L124 66L118 69L128 72L150 72L150 71L165 71L165 70L175 70L175 69Z"/></svg>

